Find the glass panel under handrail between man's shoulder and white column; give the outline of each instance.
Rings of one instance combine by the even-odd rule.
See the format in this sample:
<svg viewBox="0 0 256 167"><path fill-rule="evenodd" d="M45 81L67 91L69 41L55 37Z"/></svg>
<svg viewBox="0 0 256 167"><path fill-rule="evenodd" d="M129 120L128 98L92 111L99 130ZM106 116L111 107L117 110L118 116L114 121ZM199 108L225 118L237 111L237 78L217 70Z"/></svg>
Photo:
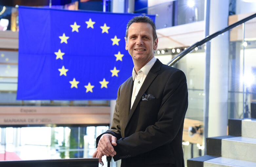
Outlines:
<svg viewBox="0 0 256 167"><path fill-rule="evenodd" d="M181 69L187 77L188 109L186 118L203 121L205 47L196 48L174 66Z"/></svg>

